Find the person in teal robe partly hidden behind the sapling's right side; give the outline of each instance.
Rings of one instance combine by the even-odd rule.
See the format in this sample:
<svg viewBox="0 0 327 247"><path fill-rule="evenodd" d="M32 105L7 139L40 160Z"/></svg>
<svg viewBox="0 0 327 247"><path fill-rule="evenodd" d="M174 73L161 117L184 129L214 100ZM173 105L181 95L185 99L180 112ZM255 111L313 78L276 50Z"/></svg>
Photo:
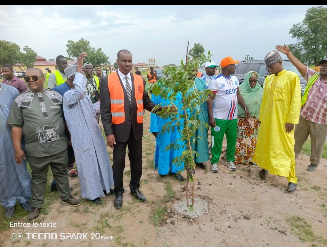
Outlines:
<svg viewBox="0 0 327 247"><path fill-rule="evenodd" d="M202 79L196 77L194 81L194 87L196 87L198 91L201 91L206 89L206 83ZM208 128L205 126L205 123L209 123L207 102L197 105L193 109L191 115L195 114L196 111L200 111L197 116L198 119L201 121L201 124L195 133L195 135L197 136L196 140L191 140L191 143L193 143L192 150L198 153L198 156L194 156L196 165L200 168L205 169L206 165L204 164L204 162L207 162L210 158L208 146Z"/></svg>

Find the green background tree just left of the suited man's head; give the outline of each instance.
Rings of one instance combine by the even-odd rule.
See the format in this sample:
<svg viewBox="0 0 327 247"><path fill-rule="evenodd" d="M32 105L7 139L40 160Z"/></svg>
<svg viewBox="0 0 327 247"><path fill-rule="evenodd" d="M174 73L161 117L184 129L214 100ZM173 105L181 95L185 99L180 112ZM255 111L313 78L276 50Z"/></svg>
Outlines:
<svg viewBox="0 0 327 247"><path fill-rule="evenodd" d="M95 50L90 46L90 41L86 39L81 38L76 42L68 40L66 46L66 52L70 57L77 58L81 52L86 52L87 57L84 58L84 62L90 62L94 66L110 64L109 57L103 53L102 48Z"/></svg>

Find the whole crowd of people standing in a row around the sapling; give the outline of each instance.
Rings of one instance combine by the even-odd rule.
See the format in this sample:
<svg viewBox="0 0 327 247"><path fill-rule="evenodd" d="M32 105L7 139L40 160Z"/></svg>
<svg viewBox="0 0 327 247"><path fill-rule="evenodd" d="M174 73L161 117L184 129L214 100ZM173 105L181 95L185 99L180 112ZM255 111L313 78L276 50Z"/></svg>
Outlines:
<svg viewBox="0 0 327 247"><path fill-rule="evenodd" d="M283 68L279 52L286 54L307 78L302 97L299 76ZM94 70L90 62L83 63L84 59L87 54L81 53L77 63L68 67L67 59L60 55L54 72L48 71L44 77L41 69L29 68L25 82L14 76L11 65L2 66L5 80L0 84L0 201L6 208L6 218L14 215L17 201L29 212L31 222L39 218L49 166L53 175L51 191L57 191L63 203L80 205L68 184L69 176L78 176L83 198L101 204L100 197L112 193L114 206L121 208L127 147L130 193L146 202L140 190L145 110L151 112L150 132L156 140L155 170L162 177L185 180L180 173L184 164L172 161L187 147L180 143L180 149L166 150L179 139L180 132L175 129L163 133L162 127L170 119L157 114L168 107L179 111L180 95L173 104L160 95L152 94L151 100L140 71L131 73L132 54L128 50L118 51L119 69L109 74L100 68ZM190 112L202 123L192 150L197 153L194 159L198 167L206 169L210 160L211 172L217 173L226 136L224 164L230 171L236 171L236 164L257 164L262 168L259 178L266 178L268 172L286 177L286 191L293 192L297 187L295 159L309 135L311 163L307 170L316 171L322 157L327 135L327 60L319 62L317 72L303 65L286 45L277 45L264 59L269 72L264 88L258 84L256 71L248 72L240 85L233 76L239 61L230 56L221 60L221 73L209 61L204 65L205 73L195 71L190 75L193 89L212 91L207 102L195 106L200 114ZM153 68L147 78L149 83L158 82ZM160 107L153 111L158 104ZM100 116L106 140L99 127ZM182 128L183 120L174 125ZM105 141L113 150L112 165Z"/></svg>

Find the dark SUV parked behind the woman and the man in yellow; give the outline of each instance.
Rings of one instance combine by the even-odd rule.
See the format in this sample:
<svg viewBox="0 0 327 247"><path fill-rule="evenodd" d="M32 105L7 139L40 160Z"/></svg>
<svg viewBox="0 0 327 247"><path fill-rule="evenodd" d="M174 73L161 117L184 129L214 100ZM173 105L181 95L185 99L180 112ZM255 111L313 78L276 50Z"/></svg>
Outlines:
<svg viewBox="0 0 327 247"><path fill-rule="evenodd" d="M299 71L295 66L286 59L283 59L283 67L286 70L293 71L300 76L301 84L301 95L304 92L306 80L301 76ZM240 84L244 82L244 75L249 71L256 71L259 74L259 84L262 86L264 84L265 78L268 75L268 70L266 68L265 60L242 60L236 65L236 70L234 76L237 77Z"/></svg>

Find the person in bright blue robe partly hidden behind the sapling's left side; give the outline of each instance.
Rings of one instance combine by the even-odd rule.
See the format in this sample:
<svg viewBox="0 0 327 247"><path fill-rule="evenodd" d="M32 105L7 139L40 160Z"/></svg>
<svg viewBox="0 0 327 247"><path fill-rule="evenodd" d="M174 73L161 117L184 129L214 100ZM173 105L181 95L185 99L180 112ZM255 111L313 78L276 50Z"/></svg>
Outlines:
<svg viewBox="0 0 327 247"><path fill-rule="evenodd" d="M160 95L155 96L152 94L152 101L155 104L161 104L162 106L170 105L169 100L163 99ZM177 99L174 102L176 107L181 108L181 96L177 95ZM179 113L182 113L179 111ZM174 158L181 155L181 153L185 150L185 145L183 142L179 141L176 144L180 145L180 149L170 148L168 151L165 151L165 148L172 142L175 142L177 139L181 137L179 131L177 130L177 126L183 127L183 119L176 121L172 126L175 126L174 131L170 129L168 132L165 131L163 134L161 133L162 127L164 124L170 122L170 118L163 119L159 115L151 113L150 120L150 132L156 137L156 150L154 153L154 170L158 168L158 173L160 176L165 176L170 174L170 176L175 177L180 181L184 181L185 178L181 176L180 171L184 170L184 163L182 164L173 164L172 161ZM169 172L170 170L170 172Z"/></svg>

